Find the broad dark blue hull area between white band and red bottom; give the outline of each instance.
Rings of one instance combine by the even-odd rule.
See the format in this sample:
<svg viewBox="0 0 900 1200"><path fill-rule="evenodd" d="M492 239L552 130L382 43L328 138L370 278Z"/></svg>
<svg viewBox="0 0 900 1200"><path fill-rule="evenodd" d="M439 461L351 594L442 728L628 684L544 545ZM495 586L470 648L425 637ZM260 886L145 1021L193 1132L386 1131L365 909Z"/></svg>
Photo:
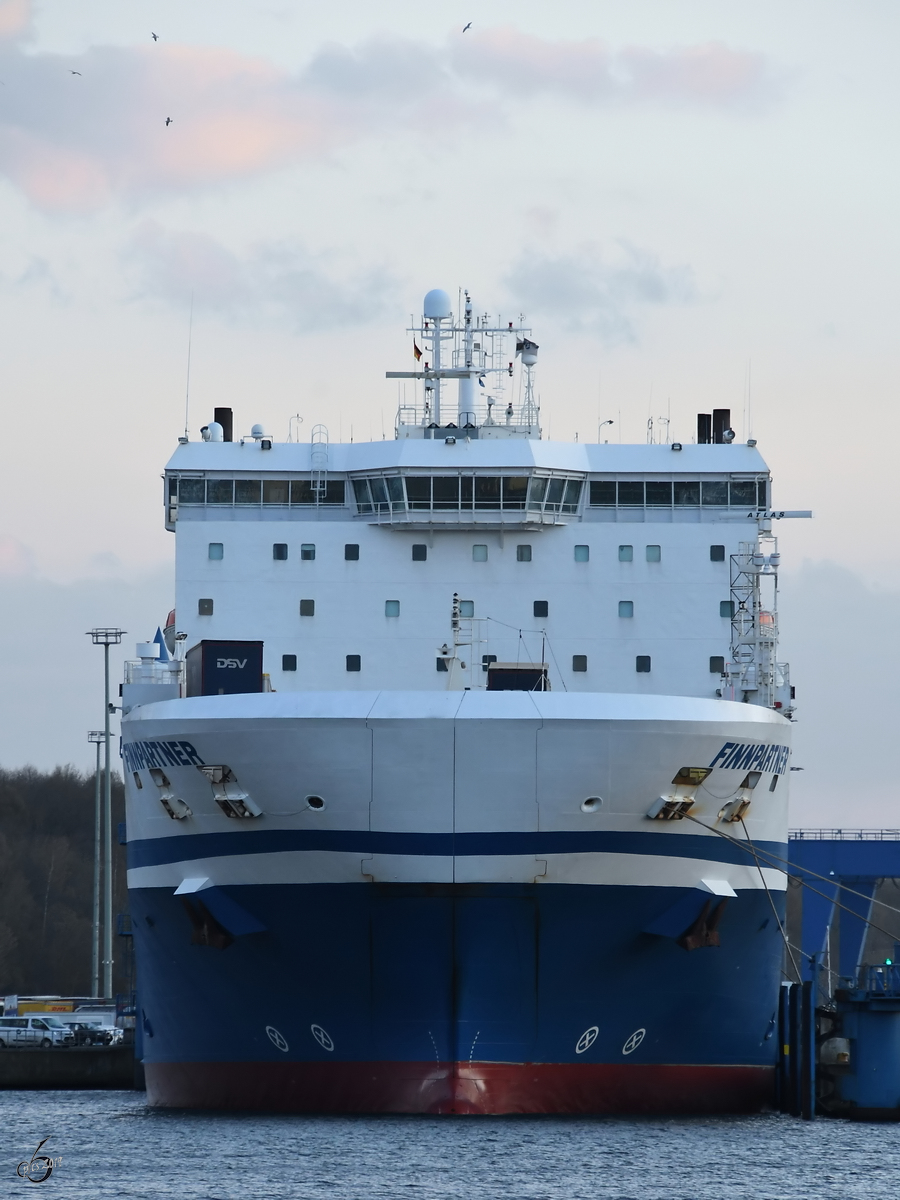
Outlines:
<svg viewBox="0 0 900 1200"><path fill-rule="evenodd" d="M148 1062L775 1061L781 941L760 890L727 902L719 947L694 952L641 932L685 889L362 883L222 890L266 931L227 949L192 944L182 898L131 892ZM784 907L784 894L774 900ZM595 1038L577 1054L594 1027ZM638 1028L643 1040L623 1055Z"/></svg>

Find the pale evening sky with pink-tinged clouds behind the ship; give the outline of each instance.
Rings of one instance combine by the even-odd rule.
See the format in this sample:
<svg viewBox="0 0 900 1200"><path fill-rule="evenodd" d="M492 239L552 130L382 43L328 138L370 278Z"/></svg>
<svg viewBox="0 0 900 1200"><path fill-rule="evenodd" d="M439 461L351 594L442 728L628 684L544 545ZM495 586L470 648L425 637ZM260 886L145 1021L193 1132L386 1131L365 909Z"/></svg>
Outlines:
<svg viewBox="0 0 900 1200"><path fill-rule="evenodd" d="M0 0L0 764L89 766L83 630L170 607L191 312L194 437L223 404L362 440L425 292L468 287L526 313L552 438L690 440L730 407L758 439L775 504L815 512L778 529L792 821L900 826L899 25L894 0Z"/></svg>

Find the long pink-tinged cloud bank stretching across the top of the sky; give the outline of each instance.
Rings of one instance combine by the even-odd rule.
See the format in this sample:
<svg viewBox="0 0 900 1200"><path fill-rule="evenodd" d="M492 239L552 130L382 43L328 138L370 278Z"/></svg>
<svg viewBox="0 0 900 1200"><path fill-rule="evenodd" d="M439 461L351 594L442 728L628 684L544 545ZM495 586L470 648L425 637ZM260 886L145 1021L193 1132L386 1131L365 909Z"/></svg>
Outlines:
<svg viewBox="0 0 900 1200"><path fill-rule="evenodd" d="M25 0L0 0L0 36L12 38L0 43L0 173L49 210L215 186L364 137L428 131L434 114L446 134L473 114L502 118L509 97L727 104L764 74L760 55L719 43L613 53L511 28L444 47L328 44L299 73L236 50L162 43L74 59L22 52L14 35L29 12Z"/></svg>

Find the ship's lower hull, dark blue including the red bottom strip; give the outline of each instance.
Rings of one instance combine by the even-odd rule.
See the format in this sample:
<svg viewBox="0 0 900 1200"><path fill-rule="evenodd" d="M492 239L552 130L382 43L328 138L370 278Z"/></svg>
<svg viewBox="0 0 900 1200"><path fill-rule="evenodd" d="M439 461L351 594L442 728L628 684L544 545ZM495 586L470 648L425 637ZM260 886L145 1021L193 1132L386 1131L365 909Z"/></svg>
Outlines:
<svg viewBox="0 0 900 1200"><path fill-rule="evenodd" d="M209 919L203 892L131 892L152 1103L221 1097L241 1106L241 1094L257 1094L248 1086L257 1072L276 1079L286 1070L302 1103L290 1103L282 1082L247 1106L452 1111L452 1103L442 1109L434 1100L434 1087L416 1099L407 1084L392 1091L390 1076L433 1084L479 1070L479 1078L504 1079L503 1094L510 1079L530 1072L532 1099L494 1097L463 1111L652 1111L654 1090L664 1110L696 1111L712 1096L710 1072L731 1080L725 1100L720 1084L712 1088L710 1105L745 1110L770 1086L782 947L764 892L726 902L719 946L685 950L678 926L689 925L701 904L686 889L360 883L215 890L232 928L241 919L244 928L264 928L197 944L210 929L214 943L216 929L224 934ZM784 894L774 900L784 906ZM671 936L644 932L667 920ZM373 1070L380 1080L374 1097ZM679 1082L667 1099L672 1072ZM541 1106L541 1093L569 1076L578 1079L581 1099ZM218 1082L206 1087L204 1079ZM340 1080L340 1094L329 1079ZM635 1098L623 1080L638 1079ZM230 1100L222 1080L234 1081Z"/></svg>

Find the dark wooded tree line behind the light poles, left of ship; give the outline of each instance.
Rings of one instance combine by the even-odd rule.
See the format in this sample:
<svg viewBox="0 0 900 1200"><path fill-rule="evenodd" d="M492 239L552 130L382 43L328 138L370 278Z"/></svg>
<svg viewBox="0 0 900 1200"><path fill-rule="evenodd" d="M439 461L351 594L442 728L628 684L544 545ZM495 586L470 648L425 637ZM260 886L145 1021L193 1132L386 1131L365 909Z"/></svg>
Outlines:
<svg viewBox="0 0 900 1200"><path fill-rule="evenodd" d="M92 772L0 768L0 995L91 992L94 796ZM125 792L114 774L114 919L127 912L121 821ZM115 925L113 959L113 990L125 991L126 946Z"/></svg>

